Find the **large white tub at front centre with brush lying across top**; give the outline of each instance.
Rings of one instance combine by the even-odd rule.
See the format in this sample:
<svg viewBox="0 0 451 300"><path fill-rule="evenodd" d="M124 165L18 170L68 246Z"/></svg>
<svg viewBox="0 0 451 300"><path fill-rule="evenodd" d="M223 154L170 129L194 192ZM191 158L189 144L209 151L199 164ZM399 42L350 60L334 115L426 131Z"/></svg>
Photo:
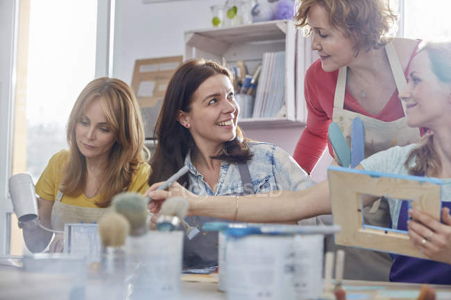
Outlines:
<svg viewBox="0 0 451 300"><path fill-rule="evenodd" d="M228 300L294 300L293 236L228 238Z"/></svg>

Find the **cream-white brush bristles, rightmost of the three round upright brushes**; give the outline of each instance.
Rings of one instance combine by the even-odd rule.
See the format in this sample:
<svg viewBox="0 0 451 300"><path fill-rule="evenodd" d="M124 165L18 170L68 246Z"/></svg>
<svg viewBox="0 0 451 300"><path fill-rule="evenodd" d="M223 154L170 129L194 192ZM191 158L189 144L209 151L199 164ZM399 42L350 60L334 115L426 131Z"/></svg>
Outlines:
<svg viewBox="0 0 451 300"><path fill-rule="evenodd" d="M180 219L180 221L183 224L183 227L185 227L185 233L187 235L187 238L191 240L196 236L200 231L196 227L189 226L189 224L184 220L185 216L188 213L188 202L184 197L172 197L168 200L164 201L162 204L162 207L160 209L160 219L157 221L157 229L158 230L166 230L171 231L175 228L175 226L172 226L168 224L167 219L164 219L165 215L174 215ZM170 228L170 230L167 230Z"/></svg>

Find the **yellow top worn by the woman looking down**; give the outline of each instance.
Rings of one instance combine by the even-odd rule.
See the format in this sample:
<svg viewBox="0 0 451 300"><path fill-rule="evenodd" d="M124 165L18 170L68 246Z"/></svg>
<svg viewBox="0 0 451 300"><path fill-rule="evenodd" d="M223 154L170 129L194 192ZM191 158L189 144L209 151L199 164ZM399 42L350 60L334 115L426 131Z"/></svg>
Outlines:
<svg viewBox="0 0 451 300"><path fill-rule="evenodd" d="M58 188L60 188L62 179L62 170L64 170L68 159L68 150L61 150L56 153L56 155L53 155L37 181L36 193L39 197L50 201L56 199L56 194L58 193ZM128 191L143 194L148 188L147 179L150 173L151 166L146 163L140 164L139 168L133 173L132 182ZM80 195L76 197L63 195L61 202L69 205L97 208L99 206L97 206L95 202L100 202L100 200L101 195L99 194L93 198L88 198L84 193L80 193Z"/></svg>

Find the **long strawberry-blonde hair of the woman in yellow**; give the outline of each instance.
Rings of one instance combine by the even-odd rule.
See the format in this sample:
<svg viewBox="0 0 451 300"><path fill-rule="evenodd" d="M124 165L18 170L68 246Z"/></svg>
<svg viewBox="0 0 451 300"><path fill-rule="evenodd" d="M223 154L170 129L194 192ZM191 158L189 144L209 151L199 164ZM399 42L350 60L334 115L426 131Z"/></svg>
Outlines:
<svg viewBox="0 0 451 300"><path fill-rule="evenodd" d="M116 78L92 80L78 96L67 122L69 160L61 181L62 193L78 196L85 187L86 160L78 149L75 128L87 104L96 99L101 101L108 125L116 136L109 153L109 164L99 186L98 193L103 200L96 202L97 206L106 207L114 195L128 190L133 172L139 168L139 164L148 160L149 152L144 147L142 117L132 89L126 82ZM147 153L146 158L144 152Z"/></svg>

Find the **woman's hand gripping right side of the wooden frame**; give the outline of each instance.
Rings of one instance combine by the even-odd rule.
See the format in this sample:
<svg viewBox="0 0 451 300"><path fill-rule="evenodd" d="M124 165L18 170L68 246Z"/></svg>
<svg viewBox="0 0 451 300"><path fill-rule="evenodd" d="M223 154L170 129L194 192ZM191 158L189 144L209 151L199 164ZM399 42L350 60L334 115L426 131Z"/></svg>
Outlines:
<svg viewBox="0 0 451 300"><path fill-rule="evenodd" d="M416 248L426 256L451 264L451 216L450 209L443 208L441 220L434 220L430 215L409 210L412 220L407 222L409 237Z"/></svg>

